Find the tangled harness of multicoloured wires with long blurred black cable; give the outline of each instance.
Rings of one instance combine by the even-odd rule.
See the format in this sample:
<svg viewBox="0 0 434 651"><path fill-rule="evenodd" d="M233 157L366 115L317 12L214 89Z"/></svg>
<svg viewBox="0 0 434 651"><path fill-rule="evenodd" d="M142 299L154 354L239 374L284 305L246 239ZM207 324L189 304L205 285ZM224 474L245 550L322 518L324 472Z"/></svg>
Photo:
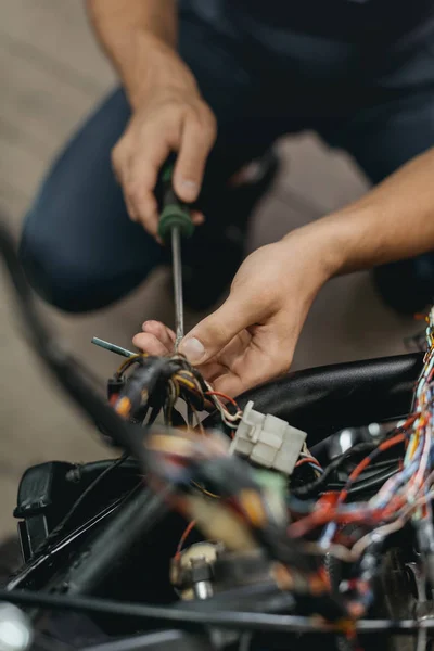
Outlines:
<svg viewBox="0 0 434 651"><path fill-rule="evenodd" d="M178 546L182 549L194 528L205 539L221 540L231 550L260 548L270 560L270 580L280 592L308 596L311 616L206 612L169 607L123 605L107 600L68 598L60 595L3 591L1 598L16 603L55 609L111 612L123 616L154 617L162 622L196 623L241 629L339 633L352 637L359 631L408 631L434 628L433 618L401 623L366 620L374 601L374 579L386 542L400 531L413 536L424 566L434 584L433 390L434 310L426 317L426 354L416 386L411 413L382 439L349 450L322 468L309 452L305 435L253 410L244 412L234 400L217 394L196 369L179 355L156 358L131 355L108 383L108 404L94 390L90 373L66 355L48 333L33 303L17 264L13 245L0 229L0 245L20 297L20 307L30 328L31 343L77 405L116 442L136 457L151 492L164 496L166 505L188 523ZM177 404L183 401L186 416ZM216 410L218 431L204 427L201 412ZM158 416L163 414L162 422ZM267 420L268 419L268 420ZM271 430L270 425L271 423ZM275 427L275 429L273 429ZM250 433L248 433L250 432ZM273 438L276 452L294 434L291 457L276 463L267 451L256 459L269 472L280 471L284 485L259 480L255 470L233 455L252 458L242 446ZM279 435L277 435L279 432ZM232 443L231 443L232 438ZM278 439L280 447L278 448ZM275 443L276 441L276 443ZM243 443L241 443L243 442ZM296 443L295 443L296 442ZM268 454L269 452L269 454ZM352 501L352 489L368 470L394 452L395 472L381 482L369 499ZM352 459L353 469L340 489L329 490L329 478ZM387 469L390 472L390 468ZM303 474L303 477L302 477ZM303 480L303 481L302 481ZM270 489L271 485L273 486ZM169 489L168 489L169 488ZM275 508L273 490L280 490L284 509ZM336 596L324 572L324 559L346 564ZM209 603L212 605L212 603ZM320 617L318 617L320 614ZM213 618L214 617L214 618Z"/></svg>

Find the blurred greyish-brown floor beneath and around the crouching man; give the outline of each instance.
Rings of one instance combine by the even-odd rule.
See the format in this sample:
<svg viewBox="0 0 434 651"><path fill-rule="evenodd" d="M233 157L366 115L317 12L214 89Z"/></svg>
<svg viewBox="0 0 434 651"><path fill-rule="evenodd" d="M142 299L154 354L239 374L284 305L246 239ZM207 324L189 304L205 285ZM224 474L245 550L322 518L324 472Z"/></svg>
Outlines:
<svg viewBox="0 0 434 651"><path fill-rule="evenodd" d="M112 87L114 75L92 40L78 0L2 0L0 24L0 209L15 233L53 154ZM353 163L310 133L279 144L284 166L258 209L252 250L359 196L367 184ZM103 380L117 360L90 345L93 335L129 345L145 318L171 321L166 271L157 271L113 308L72 318L48 310L64 341ZM98 434L53 386L22 337L4 275L0 280L0 533L13 531L18 478L30 463L110 455ZM193 323L197 315L188 315ZM294 368L404 352L418 330L380 304L369 277L329 283L318 297Z"/></svg>

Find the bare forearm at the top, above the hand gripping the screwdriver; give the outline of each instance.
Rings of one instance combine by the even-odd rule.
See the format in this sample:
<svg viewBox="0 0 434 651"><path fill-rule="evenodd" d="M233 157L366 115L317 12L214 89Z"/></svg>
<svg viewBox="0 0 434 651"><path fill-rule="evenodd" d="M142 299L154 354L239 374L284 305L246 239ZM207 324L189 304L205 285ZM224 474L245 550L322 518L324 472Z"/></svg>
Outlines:
<svg viewBox="0 0 434 651"><path fill-rule="evenodd" d="M176 50L176 0L87 0L94 31L135 104L150 76L157 74L158 52Z"/></svg>

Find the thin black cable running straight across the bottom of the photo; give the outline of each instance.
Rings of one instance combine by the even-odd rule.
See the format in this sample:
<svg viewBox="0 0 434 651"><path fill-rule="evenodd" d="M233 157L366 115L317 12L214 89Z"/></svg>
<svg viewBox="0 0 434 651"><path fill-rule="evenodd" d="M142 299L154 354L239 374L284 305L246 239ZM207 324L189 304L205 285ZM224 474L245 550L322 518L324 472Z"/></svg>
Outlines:
<svg viewBox="0 0 434 651"><path fill-rule="evenodd" d="M270 633L329 633L336 634L332 625L321 624L317 618L297 615L277 615L257 612L227 612L190 610L133 602L112 601L95 597L66 597L31 590L0 590L0 601L17 605L37 605L47 610L76 611L106 614L119 617L154 620L180 627L191 625L216 626L237 630L263 630ZM434 630L434 617L426 620L360 620L355 624L357 633L408 634L421 629ZM337 629L339 633L339 629Z"/></svg>

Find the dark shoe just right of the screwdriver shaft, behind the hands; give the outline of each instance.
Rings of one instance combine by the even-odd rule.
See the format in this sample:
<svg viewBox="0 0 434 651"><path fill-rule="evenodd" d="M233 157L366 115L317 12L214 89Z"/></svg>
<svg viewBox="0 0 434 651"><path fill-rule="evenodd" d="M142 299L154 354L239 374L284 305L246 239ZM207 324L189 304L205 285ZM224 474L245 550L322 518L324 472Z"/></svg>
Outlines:
<svg viewBox="0 0 434 651"><path fill-rule="evenodd" d="M250 217L277 176L278 155L267 153L252 169L252 179L216 196L206 222L182 244L183 298L192 310L209 309L232 282L243 261Z"/></svg>

